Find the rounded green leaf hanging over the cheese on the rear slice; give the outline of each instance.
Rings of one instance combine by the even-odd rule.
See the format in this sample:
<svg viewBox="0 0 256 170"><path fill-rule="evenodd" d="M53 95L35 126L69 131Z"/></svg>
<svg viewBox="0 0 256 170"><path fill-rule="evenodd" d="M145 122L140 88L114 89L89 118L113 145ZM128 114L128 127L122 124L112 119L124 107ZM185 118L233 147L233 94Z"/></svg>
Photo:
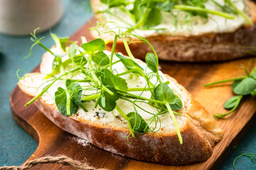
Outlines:
<svg viewBox="0 0 256 170"><path fill-rule="evenodd" d="M146 18L146 22L144 23L145 27L154 27L158 26L162 21L161 10L159 8L151 8L149 12L149 16Z"/></svg>

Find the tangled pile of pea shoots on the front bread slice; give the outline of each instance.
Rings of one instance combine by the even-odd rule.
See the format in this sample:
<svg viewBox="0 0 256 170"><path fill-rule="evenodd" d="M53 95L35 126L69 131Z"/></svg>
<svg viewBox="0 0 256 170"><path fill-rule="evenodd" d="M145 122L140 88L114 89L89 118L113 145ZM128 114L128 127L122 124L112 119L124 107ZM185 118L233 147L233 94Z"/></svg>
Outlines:
<svg viewBox="0 0 256 170"><path fill-rule="evenodd" d="M119 5L119 2L120 1L111 1L112 6ZM142 1L138 2L142 3ZM100 32L98 28L95 28L95 30ZM112 33L114 32L112 31ZM33 37L36 38L36 32L33 35ZM174 121L178 139L182 143L181 133L178 130L174 115L180 115L175 111L183 108L183 103L181 98L174 94L174 91L167 85L170 82L162 82L163 78L159 75L158 71L158 56L154 47L152 47L145 38L132 34L132 36L147 43L154 52L146 55L146 66L149 69L143 69L129 50L129 42L127 42L126 38L124 38L124 45L126 46L130 58L124 57L119 53L114 53L117 38L122 38L123 35L127 36L124 33L115 33L115 41L111 55L107 55L104 51L106 47L105 41L102 39L86 42L85 38L82 38L82 45L79 47L75 42L68 41L68 38L58 38L57 35L52 34L56 43L56 51L59 51L63 56L60 57L50 52L55 58L53 60L53 72L45 78L48 79L46 81L48 84L44 86L40 94L26 103L26 106L46 93L50 86L53 86L56 81L65 81L65 88L58 87L58 90L55 91L55 104L61 114L66 116L73 115L78 111L78 108L82 108L83 111L89 113L84 102L95 101L95 108L100 106L104 111L110 112L115 110L122 115L130 131L129 135L126 136L128 140L130 135L135 137L134 132L142 135L146 132L156 132L160 130L161 128L156 128L159 125L161 127L159 115L169 113L171 119ZM36 38L36 40L38 39ZM68 48L66 43L70 44ZM42 44L41 47L45 46ZM117 61L113 61L114 55ZM65 60L63 60L63 58L65 58ZM114 64L118 62L121 62L127 71L120 73L113 69ZM149 70L151 71L149 72ZM121 77L125 74L138 74L139 77L142 77L142 79L146 81L145 86L128 87L127 80ZM75 78L76 76L80 78L77 79ZM152 79L155 79L156 82L153 82ZM84 86L81 84L84 82L86 82L87 85ZM84 94L84 91L93 91L93 93ZM141 95L134 94L132 91L140 92ZM144 91L150 91L151 98L142 96ZM129 102L132 105L133 111L124 113L122 108L117 104L117 101L120 99ZM140 106L139 103L154 107L158 113L152 113L152 111L146 110ZM137 111L137 108L150 114L151 118L144 120L142 115Z"/></svg>

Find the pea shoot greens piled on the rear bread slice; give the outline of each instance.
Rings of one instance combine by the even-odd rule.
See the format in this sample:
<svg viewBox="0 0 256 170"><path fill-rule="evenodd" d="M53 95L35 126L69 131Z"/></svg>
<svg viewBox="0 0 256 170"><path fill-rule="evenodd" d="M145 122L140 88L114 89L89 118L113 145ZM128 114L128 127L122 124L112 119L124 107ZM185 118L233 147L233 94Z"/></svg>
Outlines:
<svg viewBox="0 0 256 170"><path fill-rule="evenodd" d="M126 23L127 26L130 26L131 23L124 21L124 18L119 17L118 13L112 12L112 8L119 8L124 12L125 15L127 15L127 17L134 21L134 24L132 25L134 29L154 28L155 26L159 26L162 23L163 11L165 13L170 13L178 20L180 16L178 16L178 13L174 12L175 10L186 11L189 16L201 16L202 18L206 19L208 19L208 14L217 15L228 19L234 19L234 15L240 15L245 18L250 25L252 25L250 18L248 18L245 13L240 11L233 4L233 1L225 0L224 4L219 4L214 0L211 1L213 1L213 4L220 8L220 11L206 8L206 0L101 0L102 4L107 5L108 8L104 11L97 11L97 13L109 13L112 16L115 16L115 18L117 18L119 21Z"/></svg>

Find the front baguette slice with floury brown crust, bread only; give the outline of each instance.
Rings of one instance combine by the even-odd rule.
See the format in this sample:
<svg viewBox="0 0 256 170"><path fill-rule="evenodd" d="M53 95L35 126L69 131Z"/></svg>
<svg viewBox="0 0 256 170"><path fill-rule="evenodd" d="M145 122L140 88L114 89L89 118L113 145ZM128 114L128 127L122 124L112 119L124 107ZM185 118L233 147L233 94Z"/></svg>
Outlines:
<svg viewBox="0 0 256 170"><path fill-rule="evenodd" d="M41 72L51 65L52 59L53 56L49 52L43 55ZM139 64L144 64L138 61ZM105 121L105 118L83 118L80 113L67 117L59 113L55 103L48 103L42 97L34 103L59 128L114 154L169 165L203 162L210 157L212 146L222 138L223 132L213 116L195 101L183 86L168 75L165 76L172 86L181 91L184 99L183 108L177 111L181 115L176 115L183 138L182 145L169 114L166 114L165 119L162 118L161 130L147 132L144 135L135 133L135 138L129 137L129 142L127 142L127 138L123 136L129 135L129 128L125 120L118 115L111 121ZM36 96L40 91L31 87L40 86L43 81L46 81L44 77L44 74L26 74L18 81L18 86L26 95ZM132 111L132 108L130 109ZM94 113L89 110L86 114L93 115ZM110 115L113 114L110 113Z"/></svg>

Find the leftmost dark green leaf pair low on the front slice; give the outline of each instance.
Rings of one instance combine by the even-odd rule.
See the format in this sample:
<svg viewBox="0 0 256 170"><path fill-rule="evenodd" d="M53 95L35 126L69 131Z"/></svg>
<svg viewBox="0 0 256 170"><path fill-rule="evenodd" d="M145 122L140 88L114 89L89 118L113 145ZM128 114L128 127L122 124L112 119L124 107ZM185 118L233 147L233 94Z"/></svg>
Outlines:
<svg viewBox="0 0 256 170"><path fill-rule="evenodd" d="M77 113L78 106L75 104L75 102L71 98L67 98L66 91L58 87L58 90L55 92L55 103L58 108L58 111L63 115L69 115L67 111L67 103L70 100L70 115L73 115Z"/></svg>

